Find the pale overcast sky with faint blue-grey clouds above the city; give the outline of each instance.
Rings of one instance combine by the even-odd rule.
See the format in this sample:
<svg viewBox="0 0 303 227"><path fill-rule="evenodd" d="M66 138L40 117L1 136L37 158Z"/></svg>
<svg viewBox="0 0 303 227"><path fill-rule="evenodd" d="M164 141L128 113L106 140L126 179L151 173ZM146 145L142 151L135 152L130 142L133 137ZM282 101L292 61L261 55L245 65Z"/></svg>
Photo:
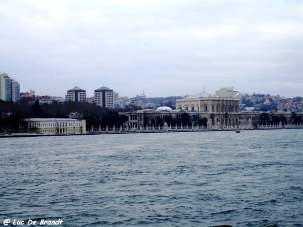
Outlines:
<svg viewBox="0 0 303 227"><path fill-rule="evenodd" d="M303 96L303 1L0 1L0 73L21 91Z"/></svg>

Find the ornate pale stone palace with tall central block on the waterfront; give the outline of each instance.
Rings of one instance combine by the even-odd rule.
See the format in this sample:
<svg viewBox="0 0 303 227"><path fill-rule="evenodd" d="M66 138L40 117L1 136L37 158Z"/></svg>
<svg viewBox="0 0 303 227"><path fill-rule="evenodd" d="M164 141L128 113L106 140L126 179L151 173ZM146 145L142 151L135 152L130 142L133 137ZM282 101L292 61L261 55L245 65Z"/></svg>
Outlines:
<svg viewBox="0 0 303 227"><path fill-rule="evenodd" d="M281 116L281 113L239 111L238 95L230 97L220 97L219 95L211 95L207 92L201 92L182 99L176 100L176 109L167 106L161 106L157 109L142 109L130 112L119 112L119 115L128 117L124 127L131 129L140 128L159 128L164 127L164 123L168 127L203 127L204 129L234 129L234 128L264 128L274 127L269 123L265 123L264 116L267 121L271 121L274 116ZM190 124L181 126L184 122L184 115L189 116ZM291 113L283 113L285 122L291 126ZM303 116L300 116L303 118ZM263 123L262 123L263 122ZM161 125L161 126L160 126ZM277 123L275 127L279 127Z"/></svg>

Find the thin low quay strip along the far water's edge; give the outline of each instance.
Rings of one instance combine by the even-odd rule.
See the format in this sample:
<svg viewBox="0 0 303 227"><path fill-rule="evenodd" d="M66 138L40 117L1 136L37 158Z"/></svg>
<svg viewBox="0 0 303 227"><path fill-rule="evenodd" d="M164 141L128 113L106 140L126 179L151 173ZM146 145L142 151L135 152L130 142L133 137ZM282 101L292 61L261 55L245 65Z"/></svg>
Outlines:
<svg viewBox="0 0 303 227"><path fill-rule="evenodd" d="M290 127L290 128L257 128L257 129L240 129L240 131L252 131L252 130L283 130L283 129L303 129L303 127ZM237 129L183 129L183 130L129 130L129 131L108 131L108 132L86 132L85 134L32 134L32 133L12 133L2 134L0 138L16 138L16 137L41 137L41 136L92 136L92 135L112 135L112 134L137 134L137 133L180 133L180 132L227 132L237 131Z"/></svg>

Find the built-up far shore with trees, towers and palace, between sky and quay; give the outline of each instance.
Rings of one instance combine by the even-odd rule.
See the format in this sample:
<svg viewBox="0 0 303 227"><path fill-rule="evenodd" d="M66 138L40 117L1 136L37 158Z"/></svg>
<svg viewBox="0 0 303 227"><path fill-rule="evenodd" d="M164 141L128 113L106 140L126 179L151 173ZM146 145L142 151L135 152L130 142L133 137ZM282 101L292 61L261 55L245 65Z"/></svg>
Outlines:
<svg viewBox="0 0 303 227"><path fill-rule="evenodd" d="M233 87L220 88L213 94L203 91L170 97L146 97L144 94L123 97L106 86L100 86L93 92L94 96L87 97L86 90L75 86L67 90L65 98L39 96L33 89L20 93L17 81L8 74L0 74L0 130L20 131L20 128L28 126L24 122L26 119L33 121L35 118L80 119L85 120L87 128L115 125L127 128L164 127L165 124L170 127L230 128L251 125L258 128L260 125L303 123L302 97L241 94ZM46 131L75 132L72 129Z"/></svg>

